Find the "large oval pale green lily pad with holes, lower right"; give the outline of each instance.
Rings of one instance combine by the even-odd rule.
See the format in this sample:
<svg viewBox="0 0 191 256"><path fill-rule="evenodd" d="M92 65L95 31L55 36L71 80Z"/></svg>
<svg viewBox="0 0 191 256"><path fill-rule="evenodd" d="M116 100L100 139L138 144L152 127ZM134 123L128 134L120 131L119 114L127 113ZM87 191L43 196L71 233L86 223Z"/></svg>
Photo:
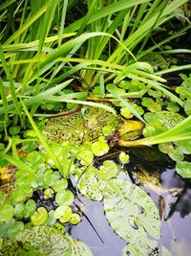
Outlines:
<svg viewBox="0 0 191 256"><path fill-rule="evenodd" d="M115 232L129 243L128 246L136 246L142 253L133 255L152 254L157 243L151 243L147 232L155 239L160 235L159 211L155 202L127 180L116 179L116 185L121 194L112 190L104 192L107 220Z"/></svg>

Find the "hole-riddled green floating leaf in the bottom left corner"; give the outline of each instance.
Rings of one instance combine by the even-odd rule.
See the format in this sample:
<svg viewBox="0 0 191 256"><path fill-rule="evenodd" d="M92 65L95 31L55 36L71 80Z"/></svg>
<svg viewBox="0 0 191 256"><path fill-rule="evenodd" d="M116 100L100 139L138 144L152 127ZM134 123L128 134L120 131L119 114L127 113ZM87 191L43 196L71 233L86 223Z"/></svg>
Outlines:
<svg viewBox="0 0 191 256"><path fill-rule="evenodd" d="M35 226L23 231L19 242L3 240L0 248L2 255L71 255L71 243L73 239L69 235L63 235L55 228Z"/></svg>

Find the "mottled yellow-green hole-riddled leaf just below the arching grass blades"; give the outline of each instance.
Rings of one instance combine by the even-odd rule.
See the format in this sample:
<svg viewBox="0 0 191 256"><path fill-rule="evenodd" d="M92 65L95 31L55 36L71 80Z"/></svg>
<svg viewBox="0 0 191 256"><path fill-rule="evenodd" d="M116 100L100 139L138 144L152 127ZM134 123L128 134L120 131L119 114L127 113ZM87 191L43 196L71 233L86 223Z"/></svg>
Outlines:
<svg viewBox="0 0 191 256"><path fill-rule="evenodd" d="M62 143L70 140L73 144L81 144L85 141L92 141L102 135L102 128L106 125L117 130L118 119L113 113L99 107L88 107L82 112L70 116L56 117L50 119L43 134L47 140Z"/></svg>

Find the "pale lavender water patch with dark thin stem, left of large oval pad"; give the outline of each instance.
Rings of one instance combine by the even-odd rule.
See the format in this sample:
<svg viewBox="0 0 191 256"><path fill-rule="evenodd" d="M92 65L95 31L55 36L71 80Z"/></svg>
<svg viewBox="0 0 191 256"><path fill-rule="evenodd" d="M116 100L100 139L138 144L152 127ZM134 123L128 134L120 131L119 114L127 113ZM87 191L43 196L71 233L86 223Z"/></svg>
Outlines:
<svg viewBox="0 0 191 256"><path fill-rule="evenodd" d="M91 223L83 217L81 223L71 231L73 238L88 244L95 256L122 255L122 248L127 243L120 239L109 225L103 212L102 203L83 197L80 197L80 200L84 203L84 205L80 205L80 208Z"/></svg>

